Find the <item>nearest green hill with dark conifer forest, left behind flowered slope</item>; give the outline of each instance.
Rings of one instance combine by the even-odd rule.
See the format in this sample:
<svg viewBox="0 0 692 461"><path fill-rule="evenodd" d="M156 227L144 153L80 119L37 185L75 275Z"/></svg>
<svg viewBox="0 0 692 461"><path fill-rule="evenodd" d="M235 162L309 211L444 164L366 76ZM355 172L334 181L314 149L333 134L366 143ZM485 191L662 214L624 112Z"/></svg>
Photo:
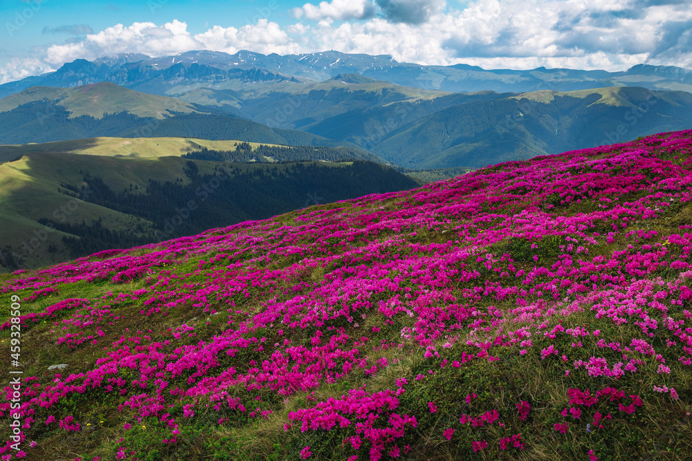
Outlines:
<svg viewBox="0 0 692 461"><path fill-rule="evenodd" d="M358 152L347 148L249 146L260 148L263 158L258 160L293 160L285 164L181 158L218 149L233 160L233 153L244 145L183 138L94 138L0 147L0 159L19 157L0 164L0 220L7 223L0 229L0 250L17 254L12 265L37 267L106 248L266 218L307 206L310 197L334 201L419 185L379 164L344 162L358 159ZM246 151L238 153L240 161L255 160L246 157ZM325 159L331 162L295 163ZM208 189L217 176L228 180L213 187L212 194ZM168 223L180 218L176 210L190 200L199 210L170 229ZM8 265L0 261L0 266Z"/></svg>

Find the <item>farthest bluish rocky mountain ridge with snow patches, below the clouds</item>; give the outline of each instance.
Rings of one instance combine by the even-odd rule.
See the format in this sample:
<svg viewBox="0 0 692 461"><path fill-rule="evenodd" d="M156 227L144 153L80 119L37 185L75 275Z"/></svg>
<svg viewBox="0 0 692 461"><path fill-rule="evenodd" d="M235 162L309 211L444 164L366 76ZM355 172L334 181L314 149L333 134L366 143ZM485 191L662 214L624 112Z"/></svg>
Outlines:
<svg viewBox="0 0 692 461"><path fill-rule="evenodd" d="M163 94L173 86L198 85L243 79L263 82L282 79L321 81L339 74L358 74L402 86L430 90L471 92L492 90L575 91L606 86L642 86L657 90L692 92L692 71L673 66L639 64L621 72L606 70L546 69L486 70L467 64L423 66L400 63L389 55L347 54L325 51L302 55L262 55L241 50L234 55L199 50L175 56L146 57L127 54L100 58L93 62L77 59L53 73L26 77L0 85L0 97L29 86L80 86L100 81L127 88Z"/></svg>

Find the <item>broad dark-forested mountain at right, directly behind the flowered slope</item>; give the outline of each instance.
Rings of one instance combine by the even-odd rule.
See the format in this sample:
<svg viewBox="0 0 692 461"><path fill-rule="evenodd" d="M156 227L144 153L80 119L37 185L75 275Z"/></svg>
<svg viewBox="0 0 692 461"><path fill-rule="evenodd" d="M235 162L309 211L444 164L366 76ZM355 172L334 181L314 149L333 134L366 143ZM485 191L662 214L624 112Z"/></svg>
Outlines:
<svg viewBox="0 0 692 461"><path fill-rule="evenodd" d="M680 91L540 91L441 109L388 131L370 150L408 168L484 167L684 129L691 109L692 94Z"/></svg>

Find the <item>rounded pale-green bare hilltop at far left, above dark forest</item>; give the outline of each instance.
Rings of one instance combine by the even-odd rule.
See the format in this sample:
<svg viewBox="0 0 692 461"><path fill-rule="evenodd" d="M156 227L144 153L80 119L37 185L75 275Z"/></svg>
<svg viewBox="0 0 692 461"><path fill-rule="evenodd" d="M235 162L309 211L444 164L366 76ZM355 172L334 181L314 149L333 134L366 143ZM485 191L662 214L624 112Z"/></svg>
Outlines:
<svg viewBox="0 0 692 461"><path fill-rule="evenodd" d="M1 99L0 112L12 111L21 105L37 101L62 106L70 113L70 117L90 115L101 118L106 113L125 111L138 117L161 119L174 112L202 113L188 102L173 97L140 93L111 82L74 88L32 86L21 93Z"/></svg>

